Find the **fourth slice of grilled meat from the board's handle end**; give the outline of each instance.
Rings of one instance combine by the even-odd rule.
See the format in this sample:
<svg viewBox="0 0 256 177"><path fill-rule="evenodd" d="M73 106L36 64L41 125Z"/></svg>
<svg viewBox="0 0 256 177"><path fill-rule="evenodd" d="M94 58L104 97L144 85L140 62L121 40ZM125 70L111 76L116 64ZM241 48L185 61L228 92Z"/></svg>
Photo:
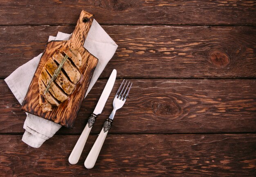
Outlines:
<svg viewBox="0 0 256 177"><path fill-rule="evenodd" d="M51 80L51 76L47 73L46 69L43 67L42 72L39 76L39 79L42 79L45 85ZM65 101L68 99L67 95L61 90L60 87L55 82L52 82L49 88L49 92L58 100L58 101Z"/></svg>

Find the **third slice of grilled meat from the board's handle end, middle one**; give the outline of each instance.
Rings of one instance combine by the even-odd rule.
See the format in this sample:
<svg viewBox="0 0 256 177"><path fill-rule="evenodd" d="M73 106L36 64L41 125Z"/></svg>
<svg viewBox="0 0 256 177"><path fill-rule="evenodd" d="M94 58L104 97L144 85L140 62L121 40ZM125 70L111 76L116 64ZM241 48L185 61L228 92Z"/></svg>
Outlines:
<svg viewBox="0 0 256 177"><path fill-rule="evenodd" d="M52 58L49 58L49 60L45 64L45 69L47 69L51 76L53 76L57 68L58 65L54 62ZM62 71L58 74L54 81L64 90L66 94L72 94L73 90L75 89L75 85L67 78L67 76L65 76Z"/></svg>

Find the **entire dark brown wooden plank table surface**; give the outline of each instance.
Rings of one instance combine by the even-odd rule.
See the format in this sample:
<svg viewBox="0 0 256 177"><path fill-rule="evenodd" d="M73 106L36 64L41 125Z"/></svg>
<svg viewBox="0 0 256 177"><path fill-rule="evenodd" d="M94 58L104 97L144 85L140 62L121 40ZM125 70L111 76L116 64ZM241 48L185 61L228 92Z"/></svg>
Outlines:
<svg viewBox="0 0 256 177"><path fill-rule="evenodd" d="M21 141L26 114L4 78L70 33L81 10L119 45L74 129L40 148ZM256 176L256 2L0 0L1 177ZM80 161L68 157L112 69L117 82ZM83 161L123 78L134 83L95 167Z"/></svg>

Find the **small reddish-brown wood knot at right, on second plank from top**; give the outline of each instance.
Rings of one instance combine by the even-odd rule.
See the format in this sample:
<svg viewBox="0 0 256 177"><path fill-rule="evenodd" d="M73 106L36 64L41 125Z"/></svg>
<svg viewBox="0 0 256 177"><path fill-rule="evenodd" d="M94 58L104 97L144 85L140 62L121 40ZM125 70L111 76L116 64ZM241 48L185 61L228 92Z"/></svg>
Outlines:
<svg viewBox="0 0 256 177"><path fill-rule="evenodd" d="M229 64L230 61L227 54L218 51L210 53L210 58L213 65L217 67L225 67L227 64Z"/></svg>

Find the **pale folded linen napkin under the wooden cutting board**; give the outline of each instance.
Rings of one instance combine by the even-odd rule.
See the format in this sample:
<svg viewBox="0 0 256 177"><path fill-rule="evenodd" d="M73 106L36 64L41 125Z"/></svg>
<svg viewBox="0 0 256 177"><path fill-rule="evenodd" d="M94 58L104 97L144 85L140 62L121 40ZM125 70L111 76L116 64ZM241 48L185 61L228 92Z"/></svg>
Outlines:
<svg viewBox="0 0 256 177"><path fill-rule="evenodd" d="M70 36L71 34L58 32L56 37L49 36L49 40L68 40ZM87 96L88 92L90 92L92 86L99 78L101 72L106 67L108 61L115 54L117 44L112 40L112 38L110 38L110 36L108 36L99 23L96 20L93 20L83 46L92 55L99 59L88 87L88 91L85 94L85 96ZM18 69L16 69L10 76L4 79L20 104L22 104L22 101L25 98L29 84L36 71L36 67L42 54L43 53L39 54L29 62L18 67ZM27 118L23 126L25 133L23 134L22 141L27 143L29 146L39 148L47 139L51 138L61 128L61 125L57 123L29 113L26 114Z"/></svg>

